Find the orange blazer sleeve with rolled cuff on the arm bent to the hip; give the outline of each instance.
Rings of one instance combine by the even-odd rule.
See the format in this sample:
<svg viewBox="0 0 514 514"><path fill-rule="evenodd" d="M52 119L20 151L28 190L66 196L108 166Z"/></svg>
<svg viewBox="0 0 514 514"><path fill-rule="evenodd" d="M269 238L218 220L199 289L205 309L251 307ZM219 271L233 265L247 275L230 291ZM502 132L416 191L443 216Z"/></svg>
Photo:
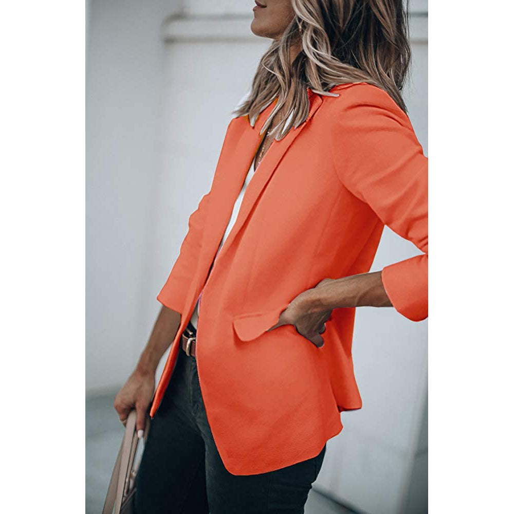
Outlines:
<svg viewBox="0 0 514 514"><path fill-rule="evenodd" d="M354 89L354 91L352 91ZM423 252L382 269L394 308L412 321L428 317L428 159L408 116L382 89L343 90L331 131L343 185L381 221Z"/></svg>

